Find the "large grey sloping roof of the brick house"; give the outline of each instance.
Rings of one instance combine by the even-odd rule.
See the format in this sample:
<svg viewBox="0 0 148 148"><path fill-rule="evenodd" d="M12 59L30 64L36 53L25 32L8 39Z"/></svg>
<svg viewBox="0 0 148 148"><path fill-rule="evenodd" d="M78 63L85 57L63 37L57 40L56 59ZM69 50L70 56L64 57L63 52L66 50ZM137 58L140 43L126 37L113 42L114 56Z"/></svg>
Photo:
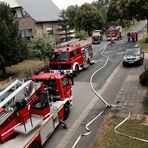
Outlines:
<svg viewBox="0 0 148 148"><path fill-rule="evenodd" d="M36 22L49 22L59 20L59 8L52 0L4 0L8 1L12 8L11 2L18 3ZM13 3L15 3L13 2Z"/></svg>

